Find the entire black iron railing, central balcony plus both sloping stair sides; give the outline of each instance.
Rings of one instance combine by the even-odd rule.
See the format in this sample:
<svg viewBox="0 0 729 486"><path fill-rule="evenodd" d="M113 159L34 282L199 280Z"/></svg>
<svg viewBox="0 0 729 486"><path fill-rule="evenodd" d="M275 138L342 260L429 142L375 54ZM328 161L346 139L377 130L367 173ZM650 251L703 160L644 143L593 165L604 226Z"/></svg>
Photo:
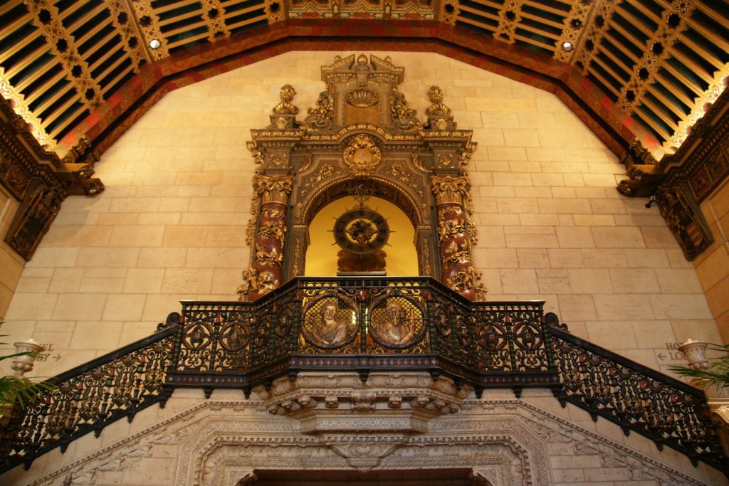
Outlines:
<svg viewBox="0 0 729 486"><path fill-rule="evenodd" d="M157 333L48 380L0 430L0 472L139 410L174 388L240 388L303 371L426 371L456 385L552 388L693 463L729 463L703 392L566 332L543 302L471 302L432 278L295 278L255 302L182 302Z"/></svg>

